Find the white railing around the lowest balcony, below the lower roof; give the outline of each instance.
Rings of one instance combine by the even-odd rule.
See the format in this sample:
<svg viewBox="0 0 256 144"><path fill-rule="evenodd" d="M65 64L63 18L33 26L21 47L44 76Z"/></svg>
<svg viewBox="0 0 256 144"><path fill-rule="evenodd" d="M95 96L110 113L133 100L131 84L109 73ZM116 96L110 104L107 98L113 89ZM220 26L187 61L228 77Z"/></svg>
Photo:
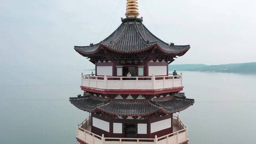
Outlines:
<svg viewBox="0 0 256 144"><path fill-rule="evenodd" d="M96 135L86 130L90 119L91 117L88 117L77 126L77 138L87 144L181 144L188 140L187 126L179 117L174 117L173 125L178 126L180 130L161 137L155 136L155 138L107 138L104 135ZM83 126L85 124L86 126Z"/></svg>

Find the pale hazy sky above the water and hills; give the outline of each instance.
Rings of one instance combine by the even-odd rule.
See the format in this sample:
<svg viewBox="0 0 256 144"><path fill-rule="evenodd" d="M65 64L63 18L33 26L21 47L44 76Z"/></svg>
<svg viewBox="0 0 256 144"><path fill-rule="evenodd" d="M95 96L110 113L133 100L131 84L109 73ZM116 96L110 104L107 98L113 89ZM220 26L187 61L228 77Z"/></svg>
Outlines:
<svg viewBox="0 0 256 144"><path fill-rule="evenodd" d="M1 68L92 68L74 45L97 43L125 17L126 0L0 0ZM139 0L167 43L191 45L181 63L256 62L255 0Z"/></svg>

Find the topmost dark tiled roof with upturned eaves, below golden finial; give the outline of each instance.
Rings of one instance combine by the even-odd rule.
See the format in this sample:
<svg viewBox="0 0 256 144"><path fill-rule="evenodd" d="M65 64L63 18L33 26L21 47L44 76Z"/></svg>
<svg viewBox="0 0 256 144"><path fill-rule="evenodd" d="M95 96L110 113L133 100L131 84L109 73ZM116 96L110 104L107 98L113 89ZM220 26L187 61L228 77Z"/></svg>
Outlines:
<svg viewBox="0 0 256 144"><path fill-rule="evenodd" d="M129 54L145 52L152 48L157 48L165 54L182 56L190 49L190 45L165 43L142 24L141 18L124 18L122 24L100 43L89 46L74 46L74 49L83 56L95 54L100 49Z"/></svg>

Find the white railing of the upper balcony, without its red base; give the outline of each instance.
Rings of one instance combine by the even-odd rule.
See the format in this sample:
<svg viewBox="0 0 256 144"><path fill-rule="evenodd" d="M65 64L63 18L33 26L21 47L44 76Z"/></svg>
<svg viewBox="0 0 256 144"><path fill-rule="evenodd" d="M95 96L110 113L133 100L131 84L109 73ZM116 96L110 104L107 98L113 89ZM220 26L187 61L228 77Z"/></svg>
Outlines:
<svg viewBox="0 0 256 144"><path fill-rule="evenodd" d="M113 77L113 76L81 76L84 87L104 90L159 90L182 87L182 75L147 76L147 77Z"/></svg>

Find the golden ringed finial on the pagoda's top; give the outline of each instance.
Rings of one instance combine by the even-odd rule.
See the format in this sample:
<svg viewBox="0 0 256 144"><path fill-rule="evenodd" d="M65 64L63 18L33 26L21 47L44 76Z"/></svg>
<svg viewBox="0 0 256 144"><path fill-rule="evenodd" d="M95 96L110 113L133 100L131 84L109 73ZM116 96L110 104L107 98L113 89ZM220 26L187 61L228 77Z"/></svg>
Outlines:
<svg viewBox="0 0 256 144"><path fill-rule="evenodd" d="M128 18L138 17L138 0L127 0L125 15Z"/></svg>

